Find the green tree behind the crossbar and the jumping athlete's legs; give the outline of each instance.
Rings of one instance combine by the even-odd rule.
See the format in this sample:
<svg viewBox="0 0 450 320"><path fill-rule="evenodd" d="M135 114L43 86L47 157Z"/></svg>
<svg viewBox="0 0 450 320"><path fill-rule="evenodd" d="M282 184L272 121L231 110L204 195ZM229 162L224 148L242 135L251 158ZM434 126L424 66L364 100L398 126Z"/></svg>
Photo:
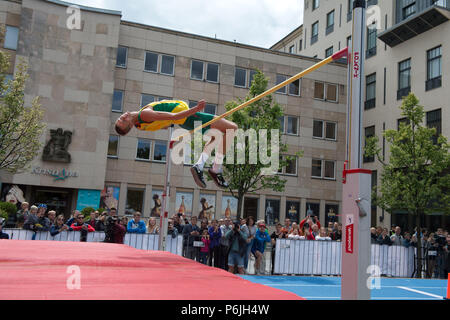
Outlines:
<svg viewBox="0 0 450 320"><path fill-rule="evenodd" d="M225 108L227 110L231 110L243 102L263 93L267 90L267 83L268 79L264 77L264 74L261 71L258 71L253 78L249 94L245 97L245 100L238 99L238 101L229 101L225 104ZM239 129L244 131L254 129L255 132L258 133L260 129L267 129L268 144L266 154L268 157L272 155L274 148L273 139L276 139L276 137L272 138L271 129L281 129L279 120L281 117L283 117L283 110L279 104L273 102L271 95L268 95L229 116L230 120L236 123ZM244 197L246 194L252 194L263 189L283 192L286 184L286 179L283 179L280 175L264 174L264 168L268 168L270 165L267 163L264 164L259 156L257 157L256 163L250 163L250 155L254 155L258 149L254 144L252 145L248 143L248 137L245 139L245 153L242 146L238 145L238 137L235 137L234 163L229 164L228 159L225 159L224 161L224 176L229 183L229 191L233 197L238 200L238 218L240 218ZM280 159L277 169L285 167L289 160L294 159L293 156L281 157L281 155L287 151L286 144L283 144L281 141L281 133L278 135L278 145ZM259 148L261 148L261 143L259 143ZM240 151L245 154L246 161L244 164L240 164L238 162L238 149L241 149ZM301 153L297 153L296 156L301 156Z"/></svg>

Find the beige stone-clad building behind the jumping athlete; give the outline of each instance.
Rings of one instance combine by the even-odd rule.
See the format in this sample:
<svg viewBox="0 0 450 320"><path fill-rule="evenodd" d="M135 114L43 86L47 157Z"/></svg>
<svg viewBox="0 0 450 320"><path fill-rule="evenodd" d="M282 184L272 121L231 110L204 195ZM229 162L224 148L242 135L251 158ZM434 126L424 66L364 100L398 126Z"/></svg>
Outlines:
<svg viewBox="0 0 450 320"><path fill-rule="evenodd" d="M1 173L3 193L18 185L25 199L66 215L100 202L118 207L119 214L138 210L151 215L153 197L161 195L164 184L168 131L133 129L119 137L114 122L122 112L173 98L191 105L205 99L206 112L221 114L227 101L248 94L256 69L272 87L317 62L124 21L117 11L80 6L77 26L76 8L69 5L0 1L0 23L6 25L3 50L14 64L20 58L28 63L27 102L40 96L45 110L42 142L48 143L50 129L72 132L69 163L44 160L40 153L29 172ZM303 218L313 210L322 222L336 219L345 150L345 70L332 63L274 94L285 111L280 121L287 154L303 150L304 155L282 168L284 192L262 190L245 198L244 216L273 214L273 223L288 215ZM170 214L181 207L197 215L202 198L214 206L211 217L222 218L228 204L236 214L231 194L211 182L199 189L187 164L172 167L171 184Z"/></svg>

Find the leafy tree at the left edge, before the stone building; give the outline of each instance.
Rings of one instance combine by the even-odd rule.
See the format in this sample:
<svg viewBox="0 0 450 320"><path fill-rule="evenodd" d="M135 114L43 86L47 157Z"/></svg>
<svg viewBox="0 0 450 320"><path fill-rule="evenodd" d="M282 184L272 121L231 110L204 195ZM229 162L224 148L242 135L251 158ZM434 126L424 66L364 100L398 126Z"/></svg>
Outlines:
<svg viewBox="0 0 450 320"><path fill-rule="evenodd" d="M39 97L25 106L26 64L20 61L14 79L5 81L9 59L8 53L0 51L0 170L18 173L36 157L45 125Z"/></svg>

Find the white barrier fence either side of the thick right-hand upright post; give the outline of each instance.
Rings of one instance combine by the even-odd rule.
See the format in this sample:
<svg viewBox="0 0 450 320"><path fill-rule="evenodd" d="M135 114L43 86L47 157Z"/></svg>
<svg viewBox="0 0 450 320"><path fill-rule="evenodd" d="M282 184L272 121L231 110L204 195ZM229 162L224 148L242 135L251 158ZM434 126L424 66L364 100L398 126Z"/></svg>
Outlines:
<svg viewBox="0 0 450 320"><path fill-rule="evenodd" d="M342 243L277 239L274 274L341 275ZM372 244L371 265L380 275L411 277L415 248Z"/></svg>

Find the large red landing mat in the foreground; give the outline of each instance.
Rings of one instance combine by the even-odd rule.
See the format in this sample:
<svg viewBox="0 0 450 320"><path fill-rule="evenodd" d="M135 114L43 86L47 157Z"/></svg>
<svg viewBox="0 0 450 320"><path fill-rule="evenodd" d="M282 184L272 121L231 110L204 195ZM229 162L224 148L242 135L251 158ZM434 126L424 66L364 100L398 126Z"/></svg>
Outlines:
<svg viewBox="0 0 450 320"><path fill-rule="evenodd" d="M79 267L77 273L68 269ZM0 240L0 299L300 300L169 252L109 243Z"/></svg>

